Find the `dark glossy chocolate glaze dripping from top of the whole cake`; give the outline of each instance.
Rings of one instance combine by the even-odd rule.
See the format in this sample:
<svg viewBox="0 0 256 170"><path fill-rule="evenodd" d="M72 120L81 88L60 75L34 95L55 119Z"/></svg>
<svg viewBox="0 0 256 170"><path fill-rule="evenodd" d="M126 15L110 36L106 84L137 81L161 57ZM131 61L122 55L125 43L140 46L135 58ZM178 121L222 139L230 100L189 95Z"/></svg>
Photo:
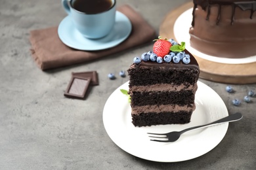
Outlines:
<svg viewBox="0 0 256 170"><path fill-rule="evenodd" d="M253 18L253 13L256 11L256 0L254 1L238 1L238 2L228 2L228 1L213 1L213 0L193 0L194 1L194 9L192 12L193 20L192 20L192 27L194 27L194 13L198 5L202 7L203 10L207 10L207 16L205 20L209 20L209 15L211 14L211 6L218 5L218 16L216 25L219 25L221 19L221 7L223 5L231 5L232 6L232 16L230 20L230 24L234 24L234 16L236 7L239 7L241 10L251 10L249 18Z"/></svg>

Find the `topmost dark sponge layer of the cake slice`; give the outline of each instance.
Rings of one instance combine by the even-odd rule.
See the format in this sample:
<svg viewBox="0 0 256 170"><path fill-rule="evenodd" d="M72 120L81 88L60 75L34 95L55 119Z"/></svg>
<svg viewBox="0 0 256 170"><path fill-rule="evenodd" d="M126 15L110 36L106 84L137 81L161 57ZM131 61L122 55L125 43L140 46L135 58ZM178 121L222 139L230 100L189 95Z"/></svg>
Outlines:
<svg viewBox="0 0 256 170"><path fill-rule="evenodd" d="M199 70L195 67L188 67L187 65L162 63L159 67L148 67L145 65L133 64L128 70L130 76L129 87L132 86L146 86L152 84L184 84L189 86L198 80ZM171 67L171 65L173 67Z"/></svg>

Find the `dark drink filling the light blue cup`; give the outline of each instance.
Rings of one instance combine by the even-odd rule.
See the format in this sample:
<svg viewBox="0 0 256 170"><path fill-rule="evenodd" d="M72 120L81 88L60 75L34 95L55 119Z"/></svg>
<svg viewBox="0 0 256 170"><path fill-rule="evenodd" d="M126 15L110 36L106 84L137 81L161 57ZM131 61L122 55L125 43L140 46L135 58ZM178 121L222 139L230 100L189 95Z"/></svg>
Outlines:
<svg viewBox="0 0 256 170"><path fill-rule="evenodd" d="M86 14L98 14L109 10L113 6L112 0L73 0L72 7Z"/></svg>

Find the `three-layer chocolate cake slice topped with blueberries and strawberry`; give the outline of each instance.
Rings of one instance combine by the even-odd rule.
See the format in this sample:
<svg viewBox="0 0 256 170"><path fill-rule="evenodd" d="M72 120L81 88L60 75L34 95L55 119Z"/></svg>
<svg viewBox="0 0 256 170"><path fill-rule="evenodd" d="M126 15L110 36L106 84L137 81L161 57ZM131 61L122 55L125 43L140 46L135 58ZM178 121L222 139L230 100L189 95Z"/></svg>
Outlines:
<svg viewBox="0 0 256 170"><path fill-rule="evenodd" d="M154 44L153 52L142 54L141 59L135 58L128 69L128 93L135 126L186 124L196 109L194 100L200 73L198 63L184 49L184 42L183 46L172 39L169 42L175 48L169 46L174 50L169 50L167 55L161 54L165 42L164 45L160 43L161 52L156 50ZM179 52L175 50L177 48Z"/></svg>

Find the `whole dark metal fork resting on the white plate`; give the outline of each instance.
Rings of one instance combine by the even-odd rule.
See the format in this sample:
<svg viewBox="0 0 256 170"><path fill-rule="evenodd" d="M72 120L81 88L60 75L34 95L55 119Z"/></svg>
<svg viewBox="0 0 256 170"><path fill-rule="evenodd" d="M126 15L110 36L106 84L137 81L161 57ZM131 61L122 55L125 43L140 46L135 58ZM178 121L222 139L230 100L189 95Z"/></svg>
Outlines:
<svg viewBox="0 0 256 170"><path fill-rule="evenodd" d="M229 116L226 116L224 118L221 118L215 122L211 122L209 124L201 125L201 126L194 126L194 127L189 127L188 129L184 129L182 131L171 131L169 133L148 133L150 135L157 135L157 136L149 136L149 137L154 137L154 138L160 138L162 140L157 140L157 139L150 139L150 141L156 141L156 142L161 142L161 143L172 143L177 141L180 137L181 134L190 131L192 129L198 129L201 127L208 127L208 126L213 126L215 124L221 124L224 122L234 122L237 120L242 119L242 114L240 112L236 112L235 114L230 114Z"/></svg>

